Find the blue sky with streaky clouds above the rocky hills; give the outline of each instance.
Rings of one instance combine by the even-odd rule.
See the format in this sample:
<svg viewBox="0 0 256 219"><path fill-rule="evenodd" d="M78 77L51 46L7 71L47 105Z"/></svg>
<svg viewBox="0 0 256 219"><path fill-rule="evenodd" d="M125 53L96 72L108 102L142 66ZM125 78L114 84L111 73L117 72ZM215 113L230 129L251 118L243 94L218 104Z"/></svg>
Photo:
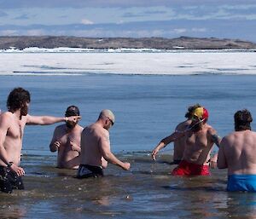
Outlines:
<svg viewBox="0 0 256 219"><path fill-rule="evenodd" d="M256 0L0 0L1 36L218 37L256 43Z"/></svg>

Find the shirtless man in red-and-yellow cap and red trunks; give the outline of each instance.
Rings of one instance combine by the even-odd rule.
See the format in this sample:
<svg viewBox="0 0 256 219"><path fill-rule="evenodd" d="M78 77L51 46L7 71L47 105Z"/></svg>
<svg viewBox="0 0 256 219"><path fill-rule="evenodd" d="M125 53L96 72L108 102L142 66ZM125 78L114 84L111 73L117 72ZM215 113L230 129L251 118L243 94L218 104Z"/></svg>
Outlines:
<svg viewBox="0 0 256 219"><path fill-rule="evenodd" d="M184 137L185 148L183 152L183 160L178 164L177 168L172 170L173 176L208 176L210 153L213 144L219 146L220 139L216 130L207 124L208 112L204 107L195 108L192 113L192 122L187 130L176 131L172 135L166 137L165 142L170 143ZM165 142L154 148L152 158L159 150L166 146Z"/></svg>

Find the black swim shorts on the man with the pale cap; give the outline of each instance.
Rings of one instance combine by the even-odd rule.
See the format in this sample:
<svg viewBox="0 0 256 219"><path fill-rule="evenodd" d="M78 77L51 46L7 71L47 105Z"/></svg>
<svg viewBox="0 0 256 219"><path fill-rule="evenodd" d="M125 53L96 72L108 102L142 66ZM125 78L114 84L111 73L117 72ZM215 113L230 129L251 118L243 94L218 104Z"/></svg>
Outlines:
<svg viewBox="0 0 256 219"><path fill-rule="evenodd" d="M101 166L92 166L88 164L80 164L77 174L77 178L88 178L88 177L101 177L103 175L103 170Z"/></svg>

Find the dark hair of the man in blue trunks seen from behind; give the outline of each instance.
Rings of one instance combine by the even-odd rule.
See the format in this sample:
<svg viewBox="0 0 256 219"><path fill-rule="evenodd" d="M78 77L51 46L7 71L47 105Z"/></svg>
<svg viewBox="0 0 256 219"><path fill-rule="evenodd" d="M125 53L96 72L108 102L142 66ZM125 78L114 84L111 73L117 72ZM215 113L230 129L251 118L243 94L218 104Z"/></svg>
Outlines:
<svg viewBox="0 0 256 219"><path fill-rule="evenodd" d="M234 115L235 119L235 130L251 130L251 123L253 122L253 117L251 112L247 109L239 110Z"/></svg>

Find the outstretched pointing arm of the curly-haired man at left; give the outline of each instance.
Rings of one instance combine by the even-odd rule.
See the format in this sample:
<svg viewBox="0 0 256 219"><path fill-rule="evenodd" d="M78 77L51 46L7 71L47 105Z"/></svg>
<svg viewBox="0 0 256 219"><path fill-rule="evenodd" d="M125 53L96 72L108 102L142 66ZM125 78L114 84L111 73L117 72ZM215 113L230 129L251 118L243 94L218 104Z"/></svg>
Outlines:
<svg viewBox="0 0 256 219"><path fill-rule="evenodd" d="M51 116L31 116L26 115L26 124L55 124L60 122L74 122L81 118L80 116L72 116L72 117L51 117Z"/></svg>

